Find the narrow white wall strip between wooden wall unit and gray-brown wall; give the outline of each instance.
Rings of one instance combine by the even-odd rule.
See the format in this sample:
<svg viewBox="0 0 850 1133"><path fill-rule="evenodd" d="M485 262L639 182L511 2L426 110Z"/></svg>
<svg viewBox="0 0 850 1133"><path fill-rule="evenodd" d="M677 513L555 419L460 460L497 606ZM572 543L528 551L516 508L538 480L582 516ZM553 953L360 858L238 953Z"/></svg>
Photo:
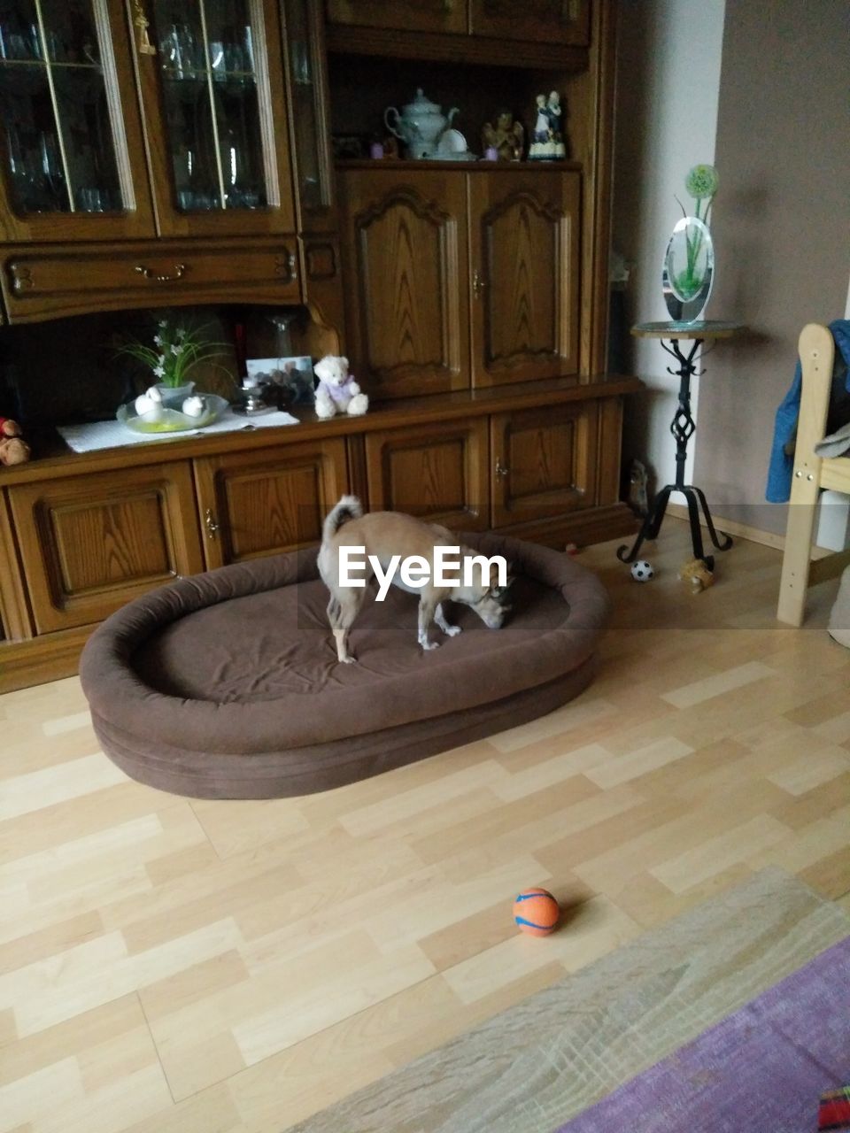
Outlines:
<svg viewBox="0 0 850 1133"><path fill-rule="evenodd" d="M629 324L669 317L661 265L681 218L675 197L688 208L692 204L685 176L692 165L714 161L724 10L725 0L620 2L613 244L635 265L627 292ZM722 193L722 169L720 176ZM657 487L674 476L670 421L679 380L666 373L674 361L656 340L632 339L627 358L647 390L629 402L624 457L646 458ZM692 389L696 418L699 378Z"/></svg>

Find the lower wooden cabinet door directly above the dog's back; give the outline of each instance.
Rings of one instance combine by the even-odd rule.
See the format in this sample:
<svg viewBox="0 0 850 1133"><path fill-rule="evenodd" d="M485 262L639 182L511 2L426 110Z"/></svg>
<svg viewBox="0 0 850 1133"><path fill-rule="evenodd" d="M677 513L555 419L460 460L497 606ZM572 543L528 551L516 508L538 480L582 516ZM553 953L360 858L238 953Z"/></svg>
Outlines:
<svg viewBox="0 0 850 1133"><path fill-rule="evenodd" d="M487 526L486 418L366 434L369 510L448 527Z"/></svg>

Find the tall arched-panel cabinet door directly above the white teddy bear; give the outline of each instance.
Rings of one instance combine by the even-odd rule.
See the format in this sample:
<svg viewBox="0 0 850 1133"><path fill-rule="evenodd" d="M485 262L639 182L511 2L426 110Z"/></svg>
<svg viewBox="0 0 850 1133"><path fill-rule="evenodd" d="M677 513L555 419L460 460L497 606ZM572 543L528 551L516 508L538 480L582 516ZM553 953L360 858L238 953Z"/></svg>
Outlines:
<svg viewBox="0 0 850 1133"><path fill-rule="evenodd" d="M468 386L465 178L346 170L340 193L358 381L377 398Z"/></svg>

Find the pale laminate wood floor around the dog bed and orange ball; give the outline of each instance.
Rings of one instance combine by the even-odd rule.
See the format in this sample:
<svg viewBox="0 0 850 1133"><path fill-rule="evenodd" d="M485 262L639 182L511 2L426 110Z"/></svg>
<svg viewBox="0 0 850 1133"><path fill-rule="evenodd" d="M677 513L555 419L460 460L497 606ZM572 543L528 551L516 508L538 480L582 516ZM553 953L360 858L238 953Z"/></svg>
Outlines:
<svg viewBox="0 0 850 1133"><path fill-rule="evenodd" d="M850 910L836 585L794 630L774 550L695 596L683 523L651 583L615 546L580 556L615 607L580 698L322 795L163 794L76 678L0 697L0 1133L282 1133L765 866Z"/></svg>

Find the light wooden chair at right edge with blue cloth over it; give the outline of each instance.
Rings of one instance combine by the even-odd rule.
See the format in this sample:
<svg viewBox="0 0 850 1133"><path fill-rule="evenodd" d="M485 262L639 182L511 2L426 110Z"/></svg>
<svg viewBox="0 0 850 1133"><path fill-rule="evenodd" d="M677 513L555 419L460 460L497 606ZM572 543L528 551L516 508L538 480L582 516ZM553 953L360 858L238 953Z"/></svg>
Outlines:
<svg viewBox="0 0 850 1133"><path fill-rule="evenodd" d="M822 559L811 557L815 510L821 489L850 493L850 457L824 459L815 455L815 445L826 432L835 357L835 343L828 327L819 323L804 326L799 351L802 395L776 611L777 619L791 625L802 624L808 588L827 578L835 578L850 563L850 551L839 551Z"/></svg>

